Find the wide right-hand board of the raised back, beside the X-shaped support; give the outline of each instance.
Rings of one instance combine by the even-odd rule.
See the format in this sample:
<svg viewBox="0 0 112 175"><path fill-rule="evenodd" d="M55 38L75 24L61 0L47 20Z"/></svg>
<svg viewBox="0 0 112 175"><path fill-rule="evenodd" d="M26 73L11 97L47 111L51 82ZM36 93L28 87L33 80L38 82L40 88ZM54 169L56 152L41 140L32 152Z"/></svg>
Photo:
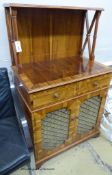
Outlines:
<svg viewBox="0 0 112 175"><path fill-rule="evenodd" d="M84 11L58 11L52 17L52 57L60 59L80 54Z"/></svg>

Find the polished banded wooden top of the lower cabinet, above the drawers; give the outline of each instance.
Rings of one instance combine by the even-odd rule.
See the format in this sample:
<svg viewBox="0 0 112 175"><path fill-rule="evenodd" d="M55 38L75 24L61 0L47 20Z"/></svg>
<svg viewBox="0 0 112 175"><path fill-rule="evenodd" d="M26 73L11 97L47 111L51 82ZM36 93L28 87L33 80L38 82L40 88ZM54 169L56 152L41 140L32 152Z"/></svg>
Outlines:
<svg viewBox="0 0 112 175"><path fill-rule="evenodd" d="M81 57L39 61L22 65L18 72L15 66L13 70L28 93L112 72L111 68Z"/></svg>

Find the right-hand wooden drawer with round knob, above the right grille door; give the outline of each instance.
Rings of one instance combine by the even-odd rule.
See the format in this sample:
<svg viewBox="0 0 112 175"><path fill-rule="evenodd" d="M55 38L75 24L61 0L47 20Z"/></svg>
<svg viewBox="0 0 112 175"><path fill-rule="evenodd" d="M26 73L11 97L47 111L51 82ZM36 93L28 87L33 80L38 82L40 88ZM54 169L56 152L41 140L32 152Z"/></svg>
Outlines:
<svg viewBox="0 0 112 175"><path fill-rule="evenodd" d="M108 87L110 82L109 75L102 75L95 78L80 81L78 85L78 95L86 92L94 91L104 87Z"/></svg>

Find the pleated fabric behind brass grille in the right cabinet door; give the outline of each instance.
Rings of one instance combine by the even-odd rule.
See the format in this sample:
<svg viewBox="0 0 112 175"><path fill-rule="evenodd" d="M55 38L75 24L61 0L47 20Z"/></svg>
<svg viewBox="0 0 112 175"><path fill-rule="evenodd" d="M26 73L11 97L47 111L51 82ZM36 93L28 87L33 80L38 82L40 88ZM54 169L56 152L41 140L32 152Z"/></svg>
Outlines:
<svg viewBox="0 0 112 175"><path fill-rule="evenodd" d="M86 100L80 106L78 117L78 134L85 134L95 127L98 111L101 103L99 96Z"/></svg>

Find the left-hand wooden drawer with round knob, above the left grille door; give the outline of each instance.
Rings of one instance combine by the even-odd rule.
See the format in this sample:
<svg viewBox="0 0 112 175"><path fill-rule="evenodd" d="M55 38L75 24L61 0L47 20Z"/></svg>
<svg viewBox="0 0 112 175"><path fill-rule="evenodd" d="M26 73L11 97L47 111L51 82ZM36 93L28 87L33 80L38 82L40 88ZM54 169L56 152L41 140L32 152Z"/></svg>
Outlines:
<svg viewBox="0 0 112 175"><path fill-rule="evenodd" d="M56 103L60 100L69 99L77 93L77 83L60 86L57 88L44 90L30 95L30 101L32 108L36 108L42 105L48 105Z"/></svg>

